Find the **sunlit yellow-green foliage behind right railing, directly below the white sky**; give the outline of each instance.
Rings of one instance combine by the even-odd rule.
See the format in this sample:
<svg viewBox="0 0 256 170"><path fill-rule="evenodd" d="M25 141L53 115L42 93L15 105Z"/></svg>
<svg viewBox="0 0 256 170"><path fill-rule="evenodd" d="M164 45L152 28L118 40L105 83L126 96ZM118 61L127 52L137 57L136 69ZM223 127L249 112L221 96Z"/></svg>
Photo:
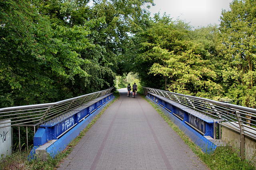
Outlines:
<svg viewBox="0 0 256 170"><path fill-rule="evenodd" d="M199 97L220 95L222 87L215 82L217 74L210 57L214 47L202 46L206 33L194 33L193 40L190 32L186 23L156 14L152 25L134 40L139 47L136 67L146 67L138 70L140 78L145 80L148 74L150 78L145 81L149 82L152 75L159 75L154 82L164 83L164 89L172 92Z"/></svg>

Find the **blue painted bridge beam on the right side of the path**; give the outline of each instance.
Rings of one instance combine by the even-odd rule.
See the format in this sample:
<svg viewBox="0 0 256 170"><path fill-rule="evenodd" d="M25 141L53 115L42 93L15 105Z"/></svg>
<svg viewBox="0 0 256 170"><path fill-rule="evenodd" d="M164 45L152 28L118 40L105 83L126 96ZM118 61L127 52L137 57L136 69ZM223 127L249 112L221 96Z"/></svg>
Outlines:
<svg viewBox="0 0 256 170"><path fill-rule="evenodd" d="M214 119L189 107L148 92L146 96L181 129L203 152L211 153L218 147L226 147L227 143L214 137Z"/></svg>

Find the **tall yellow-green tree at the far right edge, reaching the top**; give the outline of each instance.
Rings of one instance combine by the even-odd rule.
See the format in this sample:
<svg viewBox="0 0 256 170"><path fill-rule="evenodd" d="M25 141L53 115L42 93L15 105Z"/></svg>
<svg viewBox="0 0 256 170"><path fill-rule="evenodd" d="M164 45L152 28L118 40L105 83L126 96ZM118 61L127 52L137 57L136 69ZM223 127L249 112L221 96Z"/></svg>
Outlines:
<svg viewBox="0 0 256 170"><path fill-rule="evenodd" d="M223 78L236 104L256 106L256 2L234 0L222 11L218 49L223 56Z"/></svg>

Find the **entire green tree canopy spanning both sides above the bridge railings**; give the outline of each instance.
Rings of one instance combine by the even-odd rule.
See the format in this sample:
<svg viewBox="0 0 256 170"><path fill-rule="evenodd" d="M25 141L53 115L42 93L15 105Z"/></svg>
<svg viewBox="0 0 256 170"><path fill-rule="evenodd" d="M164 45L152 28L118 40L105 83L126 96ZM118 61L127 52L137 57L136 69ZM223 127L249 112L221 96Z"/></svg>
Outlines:
<svg viewBox="0 0 256 170"><path fill-rule="evenodd" d="M253 0L234 0L220 25L196 29L166 14L151 18L142 6L153 0L89 2L0 2L0 107L56 102L134 80L256 106Z"/></svg>

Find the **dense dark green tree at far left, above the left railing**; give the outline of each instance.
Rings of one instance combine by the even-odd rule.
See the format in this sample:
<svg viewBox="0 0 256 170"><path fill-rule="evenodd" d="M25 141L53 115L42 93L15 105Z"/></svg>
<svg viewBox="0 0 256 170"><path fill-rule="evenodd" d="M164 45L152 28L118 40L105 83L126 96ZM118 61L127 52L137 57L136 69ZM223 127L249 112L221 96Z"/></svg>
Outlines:
<svg viewBox="0 0 256 170"><path fill-rule="evenodd" d="M88 76L81 68L87 61L76 53L90 44L87 28L52 28L33 2L0 2L1 107L73 97L68 83Z"/></svg>

